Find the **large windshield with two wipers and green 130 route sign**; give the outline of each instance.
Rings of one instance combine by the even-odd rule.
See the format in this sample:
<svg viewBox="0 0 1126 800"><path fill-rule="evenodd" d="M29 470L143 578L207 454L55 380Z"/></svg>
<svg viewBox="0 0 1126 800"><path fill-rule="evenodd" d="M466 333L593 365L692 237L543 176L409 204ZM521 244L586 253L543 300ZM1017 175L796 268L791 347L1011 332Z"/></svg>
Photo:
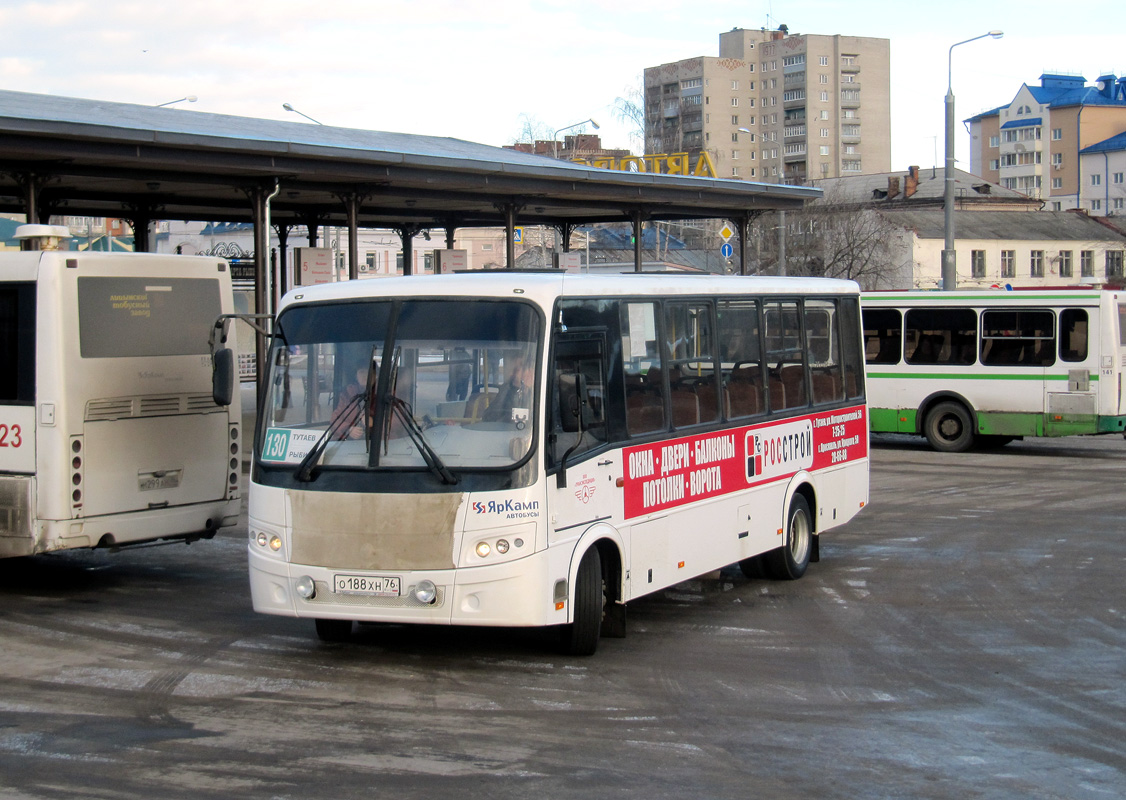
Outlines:
<svg viewBox="0 0 1126 800"><path fill-rule="evenodd" d="M369 300L278 317L260 461L510 468L531 447L539 314L518 301Z"/></svg>

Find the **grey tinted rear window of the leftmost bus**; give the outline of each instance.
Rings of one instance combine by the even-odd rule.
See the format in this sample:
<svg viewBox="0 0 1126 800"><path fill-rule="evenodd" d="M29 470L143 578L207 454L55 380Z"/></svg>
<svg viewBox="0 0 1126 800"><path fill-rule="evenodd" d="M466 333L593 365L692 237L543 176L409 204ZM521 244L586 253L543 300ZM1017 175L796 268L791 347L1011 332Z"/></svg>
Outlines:
<svg viewBox="0 0 1126 800"><path fill-rule="evenodd" d="M202 355L221 313L213 278L78 279L83 358Z"/></svg>

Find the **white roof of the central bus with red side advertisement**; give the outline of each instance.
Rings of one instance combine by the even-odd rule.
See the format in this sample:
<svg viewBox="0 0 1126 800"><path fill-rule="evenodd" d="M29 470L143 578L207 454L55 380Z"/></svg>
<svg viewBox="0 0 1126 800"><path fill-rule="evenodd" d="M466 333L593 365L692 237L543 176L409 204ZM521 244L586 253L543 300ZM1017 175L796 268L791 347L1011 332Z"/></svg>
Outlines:
<svg viewBox="0 0 1126 800"><path fill-rule="evenodd" d="M721 294L857 294L852 281L834 278L668 275L623 273L584 275L519 269L474 270L454 275L413 275L341 281L298 286L282 300L279 310L295 302L327 302L364 297L483 296L535 297L551 305L560 296L676 296Z"/></svg>

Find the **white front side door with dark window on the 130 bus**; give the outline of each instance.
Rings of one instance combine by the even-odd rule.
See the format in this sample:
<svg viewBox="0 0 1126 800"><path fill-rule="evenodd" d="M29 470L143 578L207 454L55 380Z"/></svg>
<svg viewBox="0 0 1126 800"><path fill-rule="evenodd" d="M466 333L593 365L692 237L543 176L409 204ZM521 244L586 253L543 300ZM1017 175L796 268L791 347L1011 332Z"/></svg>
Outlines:
<svg viewBox="0 0 1126 800"><path fill-rule="evenodd" d="M620 454L606 452L602 332L560 336L548 374L547 447L551 539L578 537L596 522L620 518Z"/></svg>

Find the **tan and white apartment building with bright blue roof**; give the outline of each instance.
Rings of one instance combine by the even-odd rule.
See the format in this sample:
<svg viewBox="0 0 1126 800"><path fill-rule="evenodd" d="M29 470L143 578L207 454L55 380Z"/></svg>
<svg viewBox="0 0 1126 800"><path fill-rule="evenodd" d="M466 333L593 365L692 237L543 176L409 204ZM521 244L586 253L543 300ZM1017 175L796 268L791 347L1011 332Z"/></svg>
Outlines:
<svg viewBox="0 0 1126 800"><path fill-rule="evenodd" d="M1040 198L1049 211L1114 211L1080 153L1126 132L1126 78L1106 74L1089 87L1081 75L1043 74L1039 86L1025 83L1008 105L966 122L974 175Z"/></svg>

